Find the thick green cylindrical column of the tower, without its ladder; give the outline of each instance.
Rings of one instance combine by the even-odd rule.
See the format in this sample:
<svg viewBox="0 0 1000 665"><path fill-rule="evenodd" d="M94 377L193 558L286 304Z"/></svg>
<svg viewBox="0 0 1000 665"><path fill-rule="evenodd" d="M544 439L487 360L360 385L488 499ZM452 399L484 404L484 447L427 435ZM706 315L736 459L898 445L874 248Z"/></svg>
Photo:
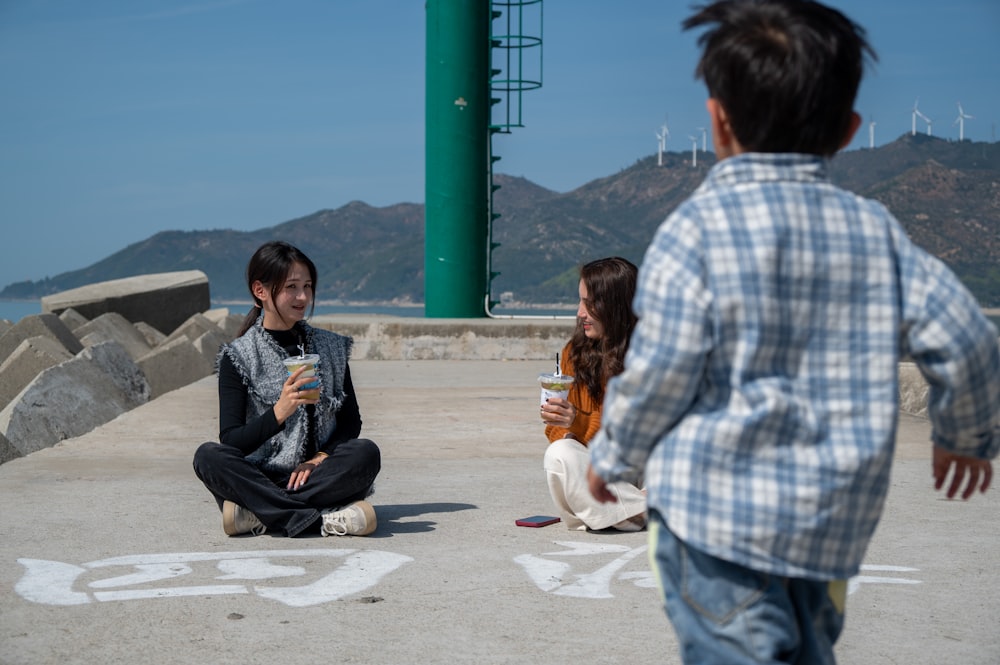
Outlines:
<svg viewBox="0 0 1000 665"><path fill-rule="evenodd" d="M427 0L424 313L486 315L488 0Z"/></svg>

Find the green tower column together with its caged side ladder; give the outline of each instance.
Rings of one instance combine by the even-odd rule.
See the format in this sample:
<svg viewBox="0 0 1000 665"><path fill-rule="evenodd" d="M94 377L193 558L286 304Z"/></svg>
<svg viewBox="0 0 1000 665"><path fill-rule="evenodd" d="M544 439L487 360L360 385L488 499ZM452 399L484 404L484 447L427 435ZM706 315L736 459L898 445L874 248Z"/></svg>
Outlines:
<svg viewBox="0 0 1000 665"><path fill-rule="evenodd" d="M427 0L424 315L489 314L495 133L521 127L523 90L541 86L541 37L524 8L541 0ZM500 26L493 34L493 22ZM537 48L537 76L522 53ZM502 53L495 65L494 51ZM494 68L494 66L496 68ZM493 96L496 95L496 96ZM499 118L491 108L499 105Z"/></svg>

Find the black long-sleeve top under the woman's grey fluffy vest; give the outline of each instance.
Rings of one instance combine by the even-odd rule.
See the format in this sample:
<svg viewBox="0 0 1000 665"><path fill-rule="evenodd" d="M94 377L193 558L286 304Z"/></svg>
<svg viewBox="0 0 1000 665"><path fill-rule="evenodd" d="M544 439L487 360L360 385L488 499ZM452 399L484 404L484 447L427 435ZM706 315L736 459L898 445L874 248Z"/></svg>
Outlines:
<svg viewBox="0 0 1000 665"><path fill-rule="evenodd" d="M268 330L275 341L285 348L289 355L297 354L299 340L291 330ZM354 384L351 382L351 367L344 372L344 403L337 411L337 427L330 438L318 446L314 440L306 445L305 459L311 458L316 452L331 453L341 441L356 439L361 434L361 411L358 399L354 394ZM274 409L268 409L261 415L247 420L247 387L230 360L223 354L219 362L219 440L229 446L234 446L244 455L257 450L265 441L284 429L279 425L274 415ZM310 439L315 437L316 427L313 421L314 406L306 407L309 414Z"/></svg>

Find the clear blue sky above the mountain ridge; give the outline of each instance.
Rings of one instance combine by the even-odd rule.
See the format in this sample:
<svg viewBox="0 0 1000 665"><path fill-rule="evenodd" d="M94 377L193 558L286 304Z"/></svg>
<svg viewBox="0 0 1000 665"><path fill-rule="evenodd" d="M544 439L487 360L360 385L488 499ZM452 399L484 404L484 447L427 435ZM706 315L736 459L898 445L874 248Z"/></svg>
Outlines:
<svg viewBox="0 0 1000 665"><path fill-rule="evenodd" d="M1000 2L843 0L880 56L848 149L996 141ZM569 191L706 124L675 0L544 0L543 85L497 170ZM536 13L528 12L533 19ZM424 199L424 0L0 0L0 287L158 231ZM533 26L531 26L533 27ZM533 30L529 30L533 32ZM919 122L918 131L926 131Z"/></svg>

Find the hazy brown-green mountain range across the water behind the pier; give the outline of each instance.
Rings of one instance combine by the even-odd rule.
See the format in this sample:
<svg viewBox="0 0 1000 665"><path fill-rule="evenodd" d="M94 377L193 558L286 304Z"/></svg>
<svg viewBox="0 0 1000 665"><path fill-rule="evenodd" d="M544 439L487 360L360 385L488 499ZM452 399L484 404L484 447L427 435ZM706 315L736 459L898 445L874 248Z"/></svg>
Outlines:
<svg viewBox="0 0 1000 665"><path fill-rule="evenodd" d="M712 153L667 152L570 192L497 174L491 296L575 304L577 269L609 255L641 261L667 214L704 179ZM885 204L918 245L954 270L984 307L1000 306L1000 144L924 134L838 154L834 182ZM424 207L335 210L255 231L163 231L79 270L10 284L0 299L38 299L84 284L175 270L203 271L214 301L248 300L246 261L263 242L301 247L319 269L317 300L422 303Z"/></svg>

